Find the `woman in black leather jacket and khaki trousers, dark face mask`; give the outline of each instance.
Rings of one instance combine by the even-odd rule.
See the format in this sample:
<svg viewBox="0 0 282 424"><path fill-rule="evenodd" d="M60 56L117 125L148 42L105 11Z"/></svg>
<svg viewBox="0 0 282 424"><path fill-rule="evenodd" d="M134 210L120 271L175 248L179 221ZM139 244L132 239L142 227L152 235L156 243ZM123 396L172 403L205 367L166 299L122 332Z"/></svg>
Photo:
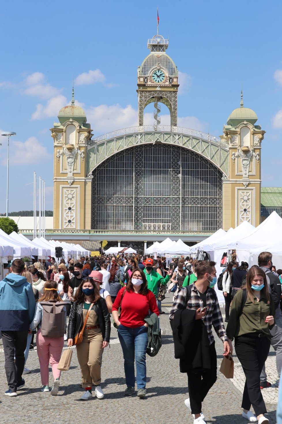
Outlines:
<svg viewBox="0 0 282 424"><path fill-rule="evenodd" d="M72 346L75 336L82 330L89 312L83 340L77 344L77 359L81 369L82 387L85 393L81 400L92 397L92 382L95 395L103 399L101 389L101 354L108 346L111 334L111 321L106 302L100 297L99 290L92 279L85 279L77 288L69 315L68 346Z"/></svg>

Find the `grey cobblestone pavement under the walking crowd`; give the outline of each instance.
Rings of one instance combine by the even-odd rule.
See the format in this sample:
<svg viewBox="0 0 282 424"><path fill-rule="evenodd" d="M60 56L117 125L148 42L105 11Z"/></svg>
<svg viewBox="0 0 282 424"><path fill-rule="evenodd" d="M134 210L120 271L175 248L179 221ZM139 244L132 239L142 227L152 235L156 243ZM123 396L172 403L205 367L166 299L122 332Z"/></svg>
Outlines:
<svg viewBox="0 0 282 424"><path fill-rule="evenodd" d="M170 295L166 299L170 301ZM30 351L27 366L31 373L24 376L25 387L18 391L19 396L10 398L4 396L7 390L4 370L4 354L0 349L0 408L1 422L17 423L69 423L76 424L89 420L115 424L155 424L169 422L193 423L193 418L185 407L184 400L188 397L187 375L179 371L179 361L174 359L174 346L169 325L169 304L163 303L166 314L160 316L163 346L159 354L147 356L147 391L146 399L138 399L136 395L125 397L125 386L122 349L117 338L116 329L111 332L111 349L105 349L102 363L101 387L105 397L83 402L79 398L83 394L80 388L81 377L74 349L72 364L69 371L62 372L61 386L58 396L40 391L39 361L36 349ZM65 344L66 346L66 344ZM2 346L0 346L2 348ZM218 353L218 369L222 359L222 343L216 337ZM235 378L226 379L218 371L216 384L208 393L203 403L203 413L206 422L219 424L241 424L247 421L241 416L241 399L244 385L244 376L240 363L236 357ZM278 388L276 379L275 353L271 348L266 363L268 381L274 384L272 388L264 389L263 396L268 409L268 419L274 424L277 405ZM53 377L50 373L50 385Z"/></svg>

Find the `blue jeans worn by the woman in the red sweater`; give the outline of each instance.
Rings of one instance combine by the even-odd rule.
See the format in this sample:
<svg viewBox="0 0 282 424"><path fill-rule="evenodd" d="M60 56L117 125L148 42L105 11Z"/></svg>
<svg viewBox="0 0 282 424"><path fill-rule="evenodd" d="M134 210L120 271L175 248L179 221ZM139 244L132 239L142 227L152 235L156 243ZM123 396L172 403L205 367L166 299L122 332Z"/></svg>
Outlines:
<svg viewBox="0 0 282 424"><path fill-rule="evenodd" d="M148 328L118 327L119 341L124 357L124 374L127 387L135 387L134 357L136 362L136 382L138 389L146 388L146 349Z"/></svg>

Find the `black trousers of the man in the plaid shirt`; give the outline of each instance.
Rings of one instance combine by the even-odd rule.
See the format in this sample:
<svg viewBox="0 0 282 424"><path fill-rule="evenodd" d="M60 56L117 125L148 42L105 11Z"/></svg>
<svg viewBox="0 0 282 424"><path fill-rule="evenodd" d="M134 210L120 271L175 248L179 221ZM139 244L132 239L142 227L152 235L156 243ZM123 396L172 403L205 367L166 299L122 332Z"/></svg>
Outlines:
<svg viewBox="0 0 282 424"><path fill-rule="evenodd" d="M215 342L210 345L210 370L195 372L188 371L188 392L192 414L202 412L202 402L208 391L216 382L216 347Z"/></svg>

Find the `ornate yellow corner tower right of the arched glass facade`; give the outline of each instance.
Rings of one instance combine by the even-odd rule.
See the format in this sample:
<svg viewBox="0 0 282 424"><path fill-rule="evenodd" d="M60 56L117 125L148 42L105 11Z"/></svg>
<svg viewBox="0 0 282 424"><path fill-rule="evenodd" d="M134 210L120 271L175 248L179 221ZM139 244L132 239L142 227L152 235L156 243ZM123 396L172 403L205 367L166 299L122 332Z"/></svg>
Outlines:
<svg viewBox="0 0 282 424"><path fill-rule="evenodd" d="M229 178L223 179L223 229L243 221L260 224L260 151L265 131L252 109L244 107L243 92L238 109L223 127L221 139L229 143Z"/></svg>

